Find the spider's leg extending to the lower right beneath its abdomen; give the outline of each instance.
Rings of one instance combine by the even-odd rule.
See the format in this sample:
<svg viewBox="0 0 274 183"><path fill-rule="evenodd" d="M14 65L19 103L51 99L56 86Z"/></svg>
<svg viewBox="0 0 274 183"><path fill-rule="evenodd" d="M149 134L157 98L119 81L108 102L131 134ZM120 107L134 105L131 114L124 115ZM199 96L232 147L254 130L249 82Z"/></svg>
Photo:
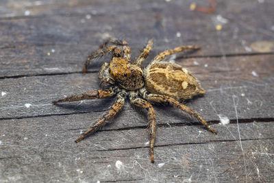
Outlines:
<svg viewBox="0 0 274 183"><path fill-rule="evenodd" d="M213 134L217 134L216 130L214 128L210 127L206 121L204 121L199 114L195 111L192 110L191 108L188 108L188 106L184 106L184 104L179 103L179 101L173 99L172 97L164 96L164 95L157 95L157 94L149 94L145 96L148 101L155 102L155 103L169 103L175 108L179 108L180 110L183 110L184 112L190 114L190 116L195 117L198 119L203 125L206 126L210 132Z"/></svg>

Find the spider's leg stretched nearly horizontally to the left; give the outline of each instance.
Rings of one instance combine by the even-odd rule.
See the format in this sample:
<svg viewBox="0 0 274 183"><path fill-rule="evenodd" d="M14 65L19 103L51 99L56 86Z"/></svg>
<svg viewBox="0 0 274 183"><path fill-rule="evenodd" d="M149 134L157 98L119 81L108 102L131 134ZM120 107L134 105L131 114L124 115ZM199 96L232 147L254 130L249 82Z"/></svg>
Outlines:
<svg viewBox="0 0 274 183"><path fill-rule="evenodd" d="M64 97L63 99L52 101L52 103L56 104L63 101L79 101L83 99L97 99L97 98L103 99L103 98L112 97L114 94L115 94L115 91L112 88L108 90L94 90L94 91L90 91L83 94Z"/></svg>

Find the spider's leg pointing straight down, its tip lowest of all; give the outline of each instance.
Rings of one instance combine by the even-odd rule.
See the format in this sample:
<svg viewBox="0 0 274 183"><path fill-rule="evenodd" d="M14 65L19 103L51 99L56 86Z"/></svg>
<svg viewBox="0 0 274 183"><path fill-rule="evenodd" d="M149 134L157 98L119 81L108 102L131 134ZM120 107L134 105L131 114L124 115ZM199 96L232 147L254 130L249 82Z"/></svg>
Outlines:
<svg viewBox="0 0 274 183"><path fill-rule="evenodd" d="M153 107L151 106L151 103L148 101L141 99L138 97L138 92L132 91L129 93L129 99L134 106L138 106L140 108L145 108L148 112L148 118L149 118L149 136L150 136L150 159L151 162L154 162L154 142L156 138L156 116L155 111Z"/></svg>

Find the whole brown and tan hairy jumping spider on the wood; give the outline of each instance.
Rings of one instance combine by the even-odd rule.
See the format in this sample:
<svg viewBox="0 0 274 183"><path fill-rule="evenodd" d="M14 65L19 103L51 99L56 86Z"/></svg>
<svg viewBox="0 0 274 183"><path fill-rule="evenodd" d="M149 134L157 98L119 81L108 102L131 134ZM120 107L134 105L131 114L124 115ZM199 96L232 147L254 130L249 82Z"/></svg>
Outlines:
<svg viewBox="0 0 274 183"><path fill-rule="evenodd" d="M112 45L107 47L108 44ZM119 46L122 47L122 51ZM127 46L127 42L110 38L101 45L100 49L88 56L84 64L83 73L86 73L90 60L112 53L112 60L109 63L105 62L99 71L101 89L65 97L53 101L53 103L79 101L82 99L101 99L114 95L116 95L116 99L112 108L105 112L100 119L92 123L90 128L75 140L76 143L99 130L109 119L112 119L122 109L127 97L129 97L129 101L134 106L145 108L148 111L151 162L154 162L153 147L156 130L156 117L151 103L169 103L173 107L179 108L190 114L190 116L195 117L210 132L216 134L216 130L210 127L195 110L180 103L184 99L191 99L195 95L203 95L205 93L197 78L179 64L162 61L166 56L187 49L194 51L199 49L199 47L182 46L163 51L158 56L155 56L146 68L142 68L142 62L149 56L152 46L153 42L149 40L140 56L136 60L132 60L131 50Z"/></svg>

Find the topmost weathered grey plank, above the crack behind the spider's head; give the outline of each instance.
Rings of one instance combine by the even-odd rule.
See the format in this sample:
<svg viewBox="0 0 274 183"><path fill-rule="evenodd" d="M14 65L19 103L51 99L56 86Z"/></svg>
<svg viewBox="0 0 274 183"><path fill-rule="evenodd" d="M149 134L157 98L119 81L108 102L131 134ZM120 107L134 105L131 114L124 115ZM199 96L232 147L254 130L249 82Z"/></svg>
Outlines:
<svg viewBox="0 0 274 183"><path fill-rule="evenodd" d="M188 1L179 0L1 3L8 9L0 14L0 77L80 72L88 53L97 49L106 35L125 38L132 46L133 58L148 38L155 40L152 56L184 44L203 47L194 56L259 53L260 49L251 49L254 42L274 53L270 0L219 1L216 14L192 12ZM24 16L26 11L29 16ZM112 19L114 14L119 19ZM228 23L216 32L220 17Z"/></svg>

